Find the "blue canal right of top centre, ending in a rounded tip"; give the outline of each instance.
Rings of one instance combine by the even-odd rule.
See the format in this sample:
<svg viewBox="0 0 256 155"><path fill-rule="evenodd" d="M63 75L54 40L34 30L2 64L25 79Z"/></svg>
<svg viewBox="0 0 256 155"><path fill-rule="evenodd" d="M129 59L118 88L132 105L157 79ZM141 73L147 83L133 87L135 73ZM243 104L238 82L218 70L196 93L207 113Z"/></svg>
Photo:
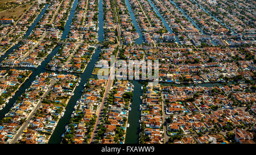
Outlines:
<svg viewBox="0 0 256 155"><path fill-rule="evenodd" d="M137 40L135 41L136 44L141 45L143 43L143 35L141 32L141 28L139 28L137 20L135 19L135 15L133 13L133 10L131 9L129 0L125 0L126 6L128 8L129 14L131 16L131 22L133 22L134 28L136 29L135 32L137 32L139 34L139 38L137 38Z"/></svg>

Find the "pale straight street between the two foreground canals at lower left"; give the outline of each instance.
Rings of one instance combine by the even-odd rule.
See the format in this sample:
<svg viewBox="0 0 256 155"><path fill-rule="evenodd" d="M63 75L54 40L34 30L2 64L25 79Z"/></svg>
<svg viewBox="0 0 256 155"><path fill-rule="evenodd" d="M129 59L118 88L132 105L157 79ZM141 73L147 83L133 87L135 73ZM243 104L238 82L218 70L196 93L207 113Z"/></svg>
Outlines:
<svg viewBox="0 0 256 155"><path fill-rule="evenodd" d="M44 97L46 97L46 95L49 93L49 91L51 91L52 89L52 85L56 83L56 80L51 80L50 84L49 84L49 88L46 92L44 92L42 99ZM34 109L31 111L31 113L28 115L27 120L25 123L22 124L22 126L19 128L18 132L16 132L16 134L14 135L13 139L10 141L11 144L15 144L20 135L22 135L23 131L25 130L25 128L27 127L28 123L30 123L31 118L33 117L34 113L36 112L36 110L39 109L40 105L42 104L42 99L38 102L38 104L36 104L36 106L34 107Z"/></svg>

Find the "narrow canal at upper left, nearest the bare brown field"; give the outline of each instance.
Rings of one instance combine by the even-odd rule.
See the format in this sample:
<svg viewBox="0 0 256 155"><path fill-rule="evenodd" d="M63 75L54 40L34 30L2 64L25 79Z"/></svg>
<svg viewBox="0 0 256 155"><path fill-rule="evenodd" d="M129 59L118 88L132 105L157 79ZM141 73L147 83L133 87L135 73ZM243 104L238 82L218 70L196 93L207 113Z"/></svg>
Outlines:
<svg viewBox="0 0 256 155"><path fill-rule="evenodd" d="M27 29L26 33L23 36L24 39L26 39L30 35L32 30L36 27L36 25L38 24L38 21L42 18L42 16L44 15L44 12L46 12L46 9L48 8L48 6L49 6L49 4L46 4L46 6L44 6L44 8L40 12L40 14L36 17L34 22L31 24L30 28ZM13 51L15 49L17 49L20 45L22 45L22 41L19 41L16 45L14 45L9 50L7 50L5 54L1 55L0 61L5 59L9 54L13 53Z"/></svg>

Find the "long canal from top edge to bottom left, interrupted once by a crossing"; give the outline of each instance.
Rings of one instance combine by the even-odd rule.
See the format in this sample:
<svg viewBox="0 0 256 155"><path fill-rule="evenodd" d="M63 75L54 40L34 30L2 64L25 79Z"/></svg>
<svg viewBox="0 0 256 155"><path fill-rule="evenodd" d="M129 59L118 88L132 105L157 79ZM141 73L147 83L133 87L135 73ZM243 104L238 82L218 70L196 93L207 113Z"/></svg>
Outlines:
<svg viewBox="0 0 256 155"><path fill-rule="evenodd" d="M104 29L103 29L103 5L102 0L99 1L99 14L98 14L98 41L102 42L104 41ZM89 78L91 78L93 68L98 61L98 57L101 53L101 48L98 48L95 50L95 53L92 55L92 60L88 63L88 65L85 68L84 73L81 74L81 82L79 86L76 87L74 91L74 95L71 97L71 99L68 102L68 105L66 107L66 111L64 116L60 119L59 123L57 124L55 130L53 131L53 134L51 138L48 141L48 144L59 144L61 143L61 135L65 132L65 126L69 123L69 120L71 119L71 114L74 110L74 106L76 105L76 101L80 99L82 96L82 90L84 90L84 84L87 82Z"/></svg>

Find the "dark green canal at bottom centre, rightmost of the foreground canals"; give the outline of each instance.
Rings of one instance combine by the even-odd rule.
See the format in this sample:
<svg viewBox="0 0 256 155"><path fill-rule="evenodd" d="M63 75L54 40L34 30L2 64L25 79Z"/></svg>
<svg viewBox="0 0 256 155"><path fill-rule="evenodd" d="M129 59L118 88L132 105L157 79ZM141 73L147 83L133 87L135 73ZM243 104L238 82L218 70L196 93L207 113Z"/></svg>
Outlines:
<svg viewBox="0 0 256 155"><path fill-rule="evenodd" d="M142 84L138 80L132 81L134 85L133 97L131 102L131 111L129 111L128 123L130 127L127 128L125 136L125 144L138 144L139 143L139 120L141 118L141 111L139 107L142 103L141 96L143 91Z"/></svg>

